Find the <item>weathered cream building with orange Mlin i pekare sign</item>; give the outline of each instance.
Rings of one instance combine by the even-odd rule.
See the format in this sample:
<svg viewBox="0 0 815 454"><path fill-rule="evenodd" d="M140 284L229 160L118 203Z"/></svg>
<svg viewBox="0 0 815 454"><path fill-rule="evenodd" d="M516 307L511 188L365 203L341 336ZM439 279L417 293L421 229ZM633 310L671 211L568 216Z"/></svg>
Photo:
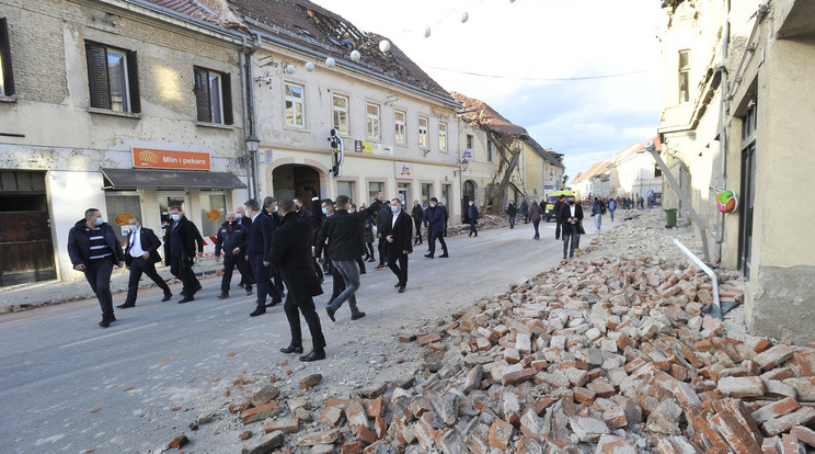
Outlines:
<svg viewBox="0 0 815 454"><path fill-rule="evenodd" d="M243 202L243 36L157 2L0 3L0 285L81 277L89 207L124 241L174 205L215 235Z"/></svg>

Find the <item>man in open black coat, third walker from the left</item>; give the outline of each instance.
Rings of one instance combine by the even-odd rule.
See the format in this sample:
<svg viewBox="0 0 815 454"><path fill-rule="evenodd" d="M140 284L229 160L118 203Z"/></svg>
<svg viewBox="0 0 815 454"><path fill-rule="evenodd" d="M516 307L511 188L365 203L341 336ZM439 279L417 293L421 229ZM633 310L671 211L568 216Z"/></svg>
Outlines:
<svg viewBox="0 0 815 454"><path fill-rule="evenodd" d="M184 295L179 304L195 299L195 292L200 290L198 277L195 276L195 245L198 245L198 256L204 253L204 238L198 227L184 216L180 207L170 208L172 223L164 232L164 263L170 264L170 272L184 284L181 294Z"/></svg>

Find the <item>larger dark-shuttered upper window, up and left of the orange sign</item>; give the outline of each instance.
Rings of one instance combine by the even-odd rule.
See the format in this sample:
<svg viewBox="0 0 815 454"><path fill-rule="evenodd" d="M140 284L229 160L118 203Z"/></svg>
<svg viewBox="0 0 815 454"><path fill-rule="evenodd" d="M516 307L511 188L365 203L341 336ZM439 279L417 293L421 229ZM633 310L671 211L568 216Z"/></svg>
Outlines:
<svg viewBox="0 0 815 454"><path fill-rule="evenodd" d="M135 50L85 42L91 107L113 112L141 112L139 72Z"/></svg>

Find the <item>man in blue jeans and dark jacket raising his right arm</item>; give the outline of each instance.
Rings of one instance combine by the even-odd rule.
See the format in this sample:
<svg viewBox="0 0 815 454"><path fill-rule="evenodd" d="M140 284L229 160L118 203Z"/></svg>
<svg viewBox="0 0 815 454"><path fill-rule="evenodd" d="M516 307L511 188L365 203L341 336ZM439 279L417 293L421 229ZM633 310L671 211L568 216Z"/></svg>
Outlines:
<svg viewBox="0 0 815 454"><path fill-rule="evenodd" d="M381 193L377 194L377 196L381 197ZM335 321L334 314L346 300L348 302L348 307L351 307L352 320L358 320L365 317L365 313L360 311L356 304L355 294L359 290L359 269L356 261L361 253L361 223L366 217L370 217L371 214L379 211L379 205L381 205L381 202L376 200L369 208L358 213L349 213L348 196L337 195L335 202L336 209L320 230L317 247L314 248L314 257L321 262L322 259L320 258L323 256L324 250L325 257L331 259L332 265L337 272L334 280L342 280L345 284L342 293L331 300L325 308L331 321Z"/></svg>

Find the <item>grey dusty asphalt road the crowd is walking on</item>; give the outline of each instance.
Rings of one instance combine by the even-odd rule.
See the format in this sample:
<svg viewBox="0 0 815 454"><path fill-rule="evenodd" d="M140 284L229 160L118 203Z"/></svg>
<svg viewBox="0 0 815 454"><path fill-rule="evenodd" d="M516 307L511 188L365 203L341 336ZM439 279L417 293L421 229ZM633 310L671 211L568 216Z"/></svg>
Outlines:
<svg viewBox="0 0 815 454"><path fill-rule="evenodd" d="M368 263L357 293L368 316L354 322L347 306L337 311L336 324L323 313L331 293L326 280L326 295L315 302L329 357L306 366L278 352L289 339L282 306L250 318L254 297L233 286L231 298L216 299L219 277L203 280L196 300L184 305L176 304L177 296L160 303L159 290L142 291L135 308L116 310L119 321L108 329L96 325L95 299L2 316L0 452L160 452L177 431L190 433L187 425L198 412L222 409L234 377L261 376L287 360L294 363L292 379L322 371L324 386L344 389L343 371L376 363L387 350L380 343L393 339L397 328L445 316L556 264L562 243L553 229L554 224L541 224L540 241L531 240L531 224L485 230L478 238L448 238L449 259L425 259L425 246L420 246L411 254L404 294L395 293L390 270L374 271L376 263ZM590 237L584 238L586 245ZM180 284L172 290L177 295ZM115 295L114 304L124 297ZM303 333L308 337L305 322ZM185 452L239 449L232 433L199 432Z"/></svg>

